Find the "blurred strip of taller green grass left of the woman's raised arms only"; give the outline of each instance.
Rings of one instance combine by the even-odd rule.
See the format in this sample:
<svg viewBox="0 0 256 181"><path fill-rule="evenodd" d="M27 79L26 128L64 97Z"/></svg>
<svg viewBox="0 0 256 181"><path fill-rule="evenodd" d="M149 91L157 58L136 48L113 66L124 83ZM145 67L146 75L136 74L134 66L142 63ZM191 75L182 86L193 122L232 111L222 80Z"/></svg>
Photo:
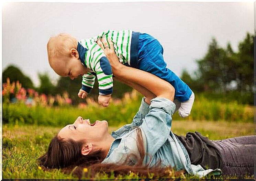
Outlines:
<svg viewBox="0 0 256 181"><path fill-rule="evenodd" d="M25 104L3 104L3 123L64 126L73 123L78 116L90 120L108 120L110 125L128 123L135 115L140 101L128 104L109 105L108 108L89 105L78 109L69 107L27 107Z"/></svg>

